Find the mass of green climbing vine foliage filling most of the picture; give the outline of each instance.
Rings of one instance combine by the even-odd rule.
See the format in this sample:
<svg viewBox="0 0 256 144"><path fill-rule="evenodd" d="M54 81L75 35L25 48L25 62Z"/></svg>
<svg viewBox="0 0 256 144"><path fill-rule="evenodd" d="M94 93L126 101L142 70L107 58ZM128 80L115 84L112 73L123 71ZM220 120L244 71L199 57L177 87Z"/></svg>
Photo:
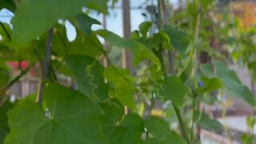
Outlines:
<svg viewBox="0 0 256 144"><path fill-rule="evenodd" d="M112 0L113 5L115 2ZM255 46L251 42L255 30L234 36L230 27L236 24L220 29L226 23L215 19L218 16L212 9L213 0L187 2L186 10L170 11L170 22L160 30L154 30L158 22L142 22L130 38L121 38L109 30L92 30L93 25L101 22L89 15L95 10L107 14L107 0L2 0L0 8L14 12L14 19L13 29L6 23L0 27L0 142L190 144L198 142L193 139L196 126L222 130L218 121L198 112L201 103L217 101L214 90L226 87L230 94L255 106L254 94L233 70L220 61L207 63L208 56L231 56L256 75ZM76 38L71 42L65 22L75 28ZM54 35L52 42L47 43L51 40L47 34L50 28ZM98 36L105 39L107 49ZM218 53L216 50L224 47L223 39L229 38L225 44L234 50L226 55ZM111 61L112 46L132 52L132 69L114 66L117 62ZM252 49L246 50L246 46ZM48 47L52 48L50 58L43 59L47 58ZM102 66L103 58L106 67ZM42 103L34 102L40 93L22 99L17 106L4 102L10 96L6 90L24 76L12 73L6 66L10 61L35 63L33 70L38 74L43 66L49 67L47 78L42 79ZM63 75L71 77L68 83L78 90L58 84ZM162 111L155 110L160 108L158 105ZM162 118L153 116L155 111L160 111ZM250 133L254 123L254 118L247 119ZM242 134L242 142L253 142L252 136Z"/></svg>

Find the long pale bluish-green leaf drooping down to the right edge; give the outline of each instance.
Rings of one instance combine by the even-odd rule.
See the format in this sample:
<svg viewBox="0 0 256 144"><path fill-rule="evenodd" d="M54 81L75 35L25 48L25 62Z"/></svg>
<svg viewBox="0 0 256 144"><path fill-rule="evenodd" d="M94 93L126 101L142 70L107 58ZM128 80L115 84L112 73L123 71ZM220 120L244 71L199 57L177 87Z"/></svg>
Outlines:
<svg viewBox="0 0 256 144"><path fill-rule="evenodd" d="M242 98L251 106L255 106L254 94L251 93L247 86L242 84L234 70L229 70L228 66L220 61L215 60L213 64L216 74L214 74L214 71L210 69L210 64L205 64L200 67L202 73L210 78L220 78L230 94L238 98Z"/></svg>

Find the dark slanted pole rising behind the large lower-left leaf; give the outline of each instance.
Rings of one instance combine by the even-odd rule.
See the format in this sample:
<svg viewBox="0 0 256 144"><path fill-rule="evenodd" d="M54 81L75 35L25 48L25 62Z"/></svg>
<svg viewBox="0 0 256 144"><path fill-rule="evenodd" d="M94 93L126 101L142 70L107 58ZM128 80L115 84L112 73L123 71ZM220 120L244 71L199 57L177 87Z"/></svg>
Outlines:
<svg viewBox="0 0 256 144"><path fill-rule="evenodd" d="M37 100L36 102L42 103L42 89L45 86L46 78L49 74L49 66L50 66L50 51L51 51L51 43L54 38L54 29L51 28L48 32L48 38L46 42L46 54L43 61L42 66L42 79L39 82L38 85L38 94L37 94Z"/></svg>

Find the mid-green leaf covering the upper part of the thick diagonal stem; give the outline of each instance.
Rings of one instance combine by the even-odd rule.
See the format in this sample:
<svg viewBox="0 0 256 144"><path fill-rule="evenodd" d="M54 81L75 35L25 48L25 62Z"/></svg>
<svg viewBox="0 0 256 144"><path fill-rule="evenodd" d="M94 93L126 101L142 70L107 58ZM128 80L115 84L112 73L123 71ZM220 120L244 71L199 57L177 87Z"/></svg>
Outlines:
<svg viewBox="0 0 256 144"><path fill-rule="evenodd" d="M187 88L182 79L178 77L166 78L166 85L162 86L159 94L164 101L170 100L175 106L182 106L183 98L186 96Z"/></svg>

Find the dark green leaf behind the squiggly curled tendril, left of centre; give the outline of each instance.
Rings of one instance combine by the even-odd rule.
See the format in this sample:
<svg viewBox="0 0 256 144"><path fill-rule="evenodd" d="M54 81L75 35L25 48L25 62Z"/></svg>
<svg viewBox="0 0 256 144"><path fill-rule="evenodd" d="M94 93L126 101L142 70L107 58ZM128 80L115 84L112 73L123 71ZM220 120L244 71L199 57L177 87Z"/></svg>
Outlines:
<svg viewBox="0 0 256 144"><path fill-rule="evenodd" d="M74 74L78 90L83 94L92 94L100 101L108 97L108 85L104 82L104 67L97 59L83 55L72 54L65 58L67 65Z"/></svg>

